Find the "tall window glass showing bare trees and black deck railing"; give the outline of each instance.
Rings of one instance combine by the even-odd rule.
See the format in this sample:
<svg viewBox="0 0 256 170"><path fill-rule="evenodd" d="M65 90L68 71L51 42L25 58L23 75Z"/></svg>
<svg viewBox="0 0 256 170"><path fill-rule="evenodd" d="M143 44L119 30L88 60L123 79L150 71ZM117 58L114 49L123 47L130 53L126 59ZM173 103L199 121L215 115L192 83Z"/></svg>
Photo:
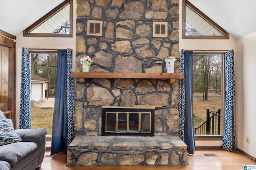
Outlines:
<svg viewBox="0 0 256 170"><path fill-rule="evenodd" d="M195 135L221 135L222 55L194 55L193 92Z"/></svg>

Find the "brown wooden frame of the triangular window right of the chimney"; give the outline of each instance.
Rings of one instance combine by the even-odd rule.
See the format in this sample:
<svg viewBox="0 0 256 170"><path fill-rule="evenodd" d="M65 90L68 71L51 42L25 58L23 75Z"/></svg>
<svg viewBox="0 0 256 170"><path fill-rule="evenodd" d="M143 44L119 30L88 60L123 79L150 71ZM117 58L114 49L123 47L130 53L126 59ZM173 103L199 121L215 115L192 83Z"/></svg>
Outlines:
<svg viewBox="0 0 256 170"><path fill-rule="evenodd" d="M216 28L218 31L223 33L223 36L212 36L212 35L186 35L186 6L193 10L196 14L206 20L210 25ZM182 0L182 39L229 39L229 33L225 31L220 25L211 20L208 16L202 13L188 0Z"/></svg>

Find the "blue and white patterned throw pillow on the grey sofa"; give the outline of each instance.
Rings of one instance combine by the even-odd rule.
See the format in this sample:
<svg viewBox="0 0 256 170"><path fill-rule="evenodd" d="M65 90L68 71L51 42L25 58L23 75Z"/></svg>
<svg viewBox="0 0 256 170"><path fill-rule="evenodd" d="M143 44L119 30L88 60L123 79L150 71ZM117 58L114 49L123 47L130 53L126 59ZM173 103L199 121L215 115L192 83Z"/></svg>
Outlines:
<svg viewBox="0 0 256 170"><path fill-rule="evenodd" d="M11 119L0 119L0 146L20 142L21 137L13 128Z"/></svg>

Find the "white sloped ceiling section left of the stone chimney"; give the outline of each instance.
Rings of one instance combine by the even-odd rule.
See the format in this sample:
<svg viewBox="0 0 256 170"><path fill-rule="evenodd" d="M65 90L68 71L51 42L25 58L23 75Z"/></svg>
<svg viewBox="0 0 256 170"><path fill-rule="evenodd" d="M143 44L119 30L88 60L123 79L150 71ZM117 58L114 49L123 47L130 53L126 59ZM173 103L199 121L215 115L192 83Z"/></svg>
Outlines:
<svg viewBox="0 0 256 170"><path fill-rule="evenodd" d="M64 0L0 0L0 29L19 35Z"/></svg>

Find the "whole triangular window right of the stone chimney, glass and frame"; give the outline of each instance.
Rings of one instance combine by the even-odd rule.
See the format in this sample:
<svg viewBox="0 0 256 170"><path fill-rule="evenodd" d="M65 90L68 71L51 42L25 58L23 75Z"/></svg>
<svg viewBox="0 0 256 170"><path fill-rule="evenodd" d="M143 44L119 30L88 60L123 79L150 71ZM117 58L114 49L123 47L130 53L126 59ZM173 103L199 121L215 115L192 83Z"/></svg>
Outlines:
<svg viewBox="0 0 256 170"><path fill-rule="evenodd" d="M229 39L229 33L183 0L183 39Z"/></svg>

